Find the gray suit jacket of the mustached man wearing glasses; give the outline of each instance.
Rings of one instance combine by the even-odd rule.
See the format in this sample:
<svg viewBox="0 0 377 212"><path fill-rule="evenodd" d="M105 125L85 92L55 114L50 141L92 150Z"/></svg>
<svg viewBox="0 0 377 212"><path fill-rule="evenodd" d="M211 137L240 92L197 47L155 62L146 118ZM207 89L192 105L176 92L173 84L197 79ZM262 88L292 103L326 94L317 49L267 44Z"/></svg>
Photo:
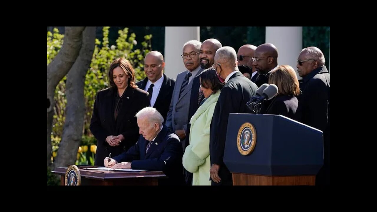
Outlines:
<svg viewBox="0 0 377 212"><path fill-rule="evenodd" d="M196 73L195 76L199 75L203 70L204 69L202 68L199 69L198 73ZM185 132L187 132L187 117L189 115L193 79L187 85L186 89L182 92L181 97L179 97L179 91L181 90L181 86L186 74L187 70L177 75L172 101L170 102L169 112L167 113L166 117L166 126L173 132L179 129L183 129ZM181 141L182 145L184 145L185 139Z"/></svg>

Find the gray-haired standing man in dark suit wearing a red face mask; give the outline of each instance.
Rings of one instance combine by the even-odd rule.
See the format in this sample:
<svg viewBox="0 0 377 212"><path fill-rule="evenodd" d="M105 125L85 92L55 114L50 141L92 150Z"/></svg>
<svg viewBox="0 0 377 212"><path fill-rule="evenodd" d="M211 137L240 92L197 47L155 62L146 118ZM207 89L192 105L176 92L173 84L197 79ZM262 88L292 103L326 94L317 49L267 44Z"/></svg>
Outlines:
<svg viewBox="0 0 377 212"><path fill-rule="evenodd" d="M238 70L236 51L229 46L216 51L213 68L216 74L225 79L225 85L216 103L210 126L210 176L212 185L232 185L232 175L223 161L228 117L230 113L250 114L246 103L255 96L258 88Z"/></svg>

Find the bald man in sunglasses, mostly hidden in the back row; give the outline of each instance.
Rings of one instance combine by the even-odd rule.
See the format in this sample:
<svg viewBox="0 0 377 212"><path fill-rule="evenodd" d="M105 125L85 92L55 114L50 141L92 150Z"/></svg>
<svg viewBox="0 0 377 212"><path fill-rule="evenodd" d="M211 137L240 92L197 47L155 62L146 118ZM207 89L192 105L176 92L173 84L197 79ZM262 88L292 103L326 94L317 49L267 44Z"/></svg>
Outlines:
<svg viewBox="0 0 377 212"><path fill-rule="evenodd" d="M258 77L258 73L255 71L255 67L253 66L253 57L254 52L257 47L254 45L246 44L241 46L237 52L237 61L239 66L247 65L251 68L252 74L250 75L250 80L255 82L256 78Z"/></svg>

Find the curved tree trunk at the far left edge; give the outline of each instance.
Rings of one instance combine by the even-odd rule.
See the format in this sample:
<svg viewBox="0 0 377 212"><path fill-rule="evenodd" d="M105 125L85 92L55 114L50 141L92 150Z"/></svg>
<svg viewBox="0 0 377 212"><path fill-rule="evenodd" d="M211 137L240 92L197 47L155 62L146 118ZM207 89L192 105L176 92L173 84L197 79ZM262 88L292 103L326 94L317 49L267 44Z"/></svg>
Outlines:
<svg viewBox="0 0 377 212"><path fill-rule="evenodd" d="M64 43L47 66L47 166L51 164L51 132L54 115L54 94L59 81L72 67L80 52L85 27L66 27Z"/></svg>

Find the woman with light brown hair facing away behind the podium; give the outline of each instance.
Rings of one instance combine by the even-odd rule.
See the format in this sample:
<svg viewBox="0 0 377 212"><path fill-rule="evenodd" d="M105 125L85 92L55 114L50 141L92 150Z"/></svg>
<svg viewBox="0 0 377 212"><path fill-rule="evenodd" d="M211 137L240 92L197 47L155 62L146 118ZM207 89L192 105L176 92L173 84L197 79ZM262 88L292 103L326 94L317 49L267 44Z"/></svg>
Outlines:
<svg viewBox="0 0 377 212"><path fill-rule="evenodd" d="M293 68L289 65L282 65L272 69L268 84L275 84L279 92L272 99L265 114L284 115L295 119L299 103L296 97L300 94L300 87Z"/></svg>

